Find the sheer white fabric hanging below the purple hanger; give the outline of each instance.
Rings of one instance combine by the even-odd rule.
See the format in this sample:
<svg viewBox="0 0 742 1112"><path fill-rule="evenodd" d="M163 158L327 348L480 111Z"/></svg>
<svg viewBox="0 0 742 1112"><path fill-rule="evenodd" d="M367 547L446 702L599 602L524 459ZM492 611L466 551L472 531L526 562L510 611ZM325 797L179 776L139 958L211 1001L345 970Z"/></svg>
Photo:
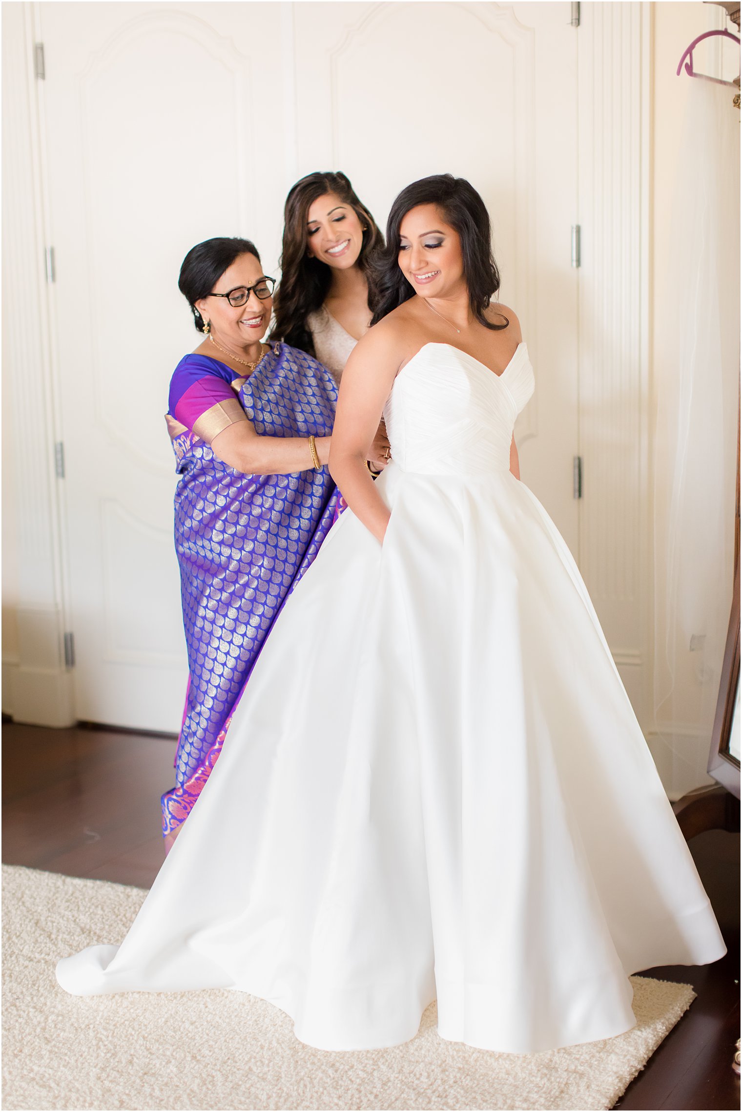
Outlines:
<svg viewBox="0 0 742 1112"><path fill-rule="evenodd" d="M732 595L740 367L740 112L689 79L673 203L675 380L656 403L654 718L671 798L706 761Z"/></svg>

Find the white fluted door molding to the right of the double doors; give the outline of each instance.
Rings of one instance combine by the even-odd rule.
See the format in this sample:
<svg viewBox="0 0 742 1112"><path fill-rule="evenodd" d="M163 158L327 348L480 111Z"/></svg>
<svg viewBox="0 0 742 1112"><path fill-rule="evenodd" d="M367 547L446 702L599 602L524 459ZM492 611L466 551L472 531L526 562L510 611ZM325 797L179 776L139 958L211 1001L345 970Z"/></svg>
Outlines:
<svg viewBox="0 0 742 1112"><path fill-rule="evenodd" d="M580 569L616 659L646 661L650 13L582 4ZM634 711L650 721L646 671Z"/></svg>

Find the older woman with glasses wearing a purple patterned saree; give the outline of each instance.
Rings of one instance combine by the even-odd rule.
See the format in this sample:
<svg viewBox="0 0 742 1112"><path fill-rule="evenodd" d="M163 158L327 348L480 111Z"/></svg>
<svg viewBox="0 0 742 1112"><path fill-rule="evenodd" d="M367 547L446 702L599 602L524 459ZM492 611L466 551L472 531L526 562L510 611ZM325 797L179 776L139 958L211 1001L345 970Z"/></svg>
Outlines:
<svg viewBox="0 0 742 1112"><path fill-rule="evenodd" d="M179 287L203 341L178 364L168 428L189 685L166 848L221 751L230 715L283 600L317 555L338 495L327 469L337 387L315 359L261 337L273 279L254 245L210 239ZM383 466L379 440L375 466Z"/></svg>

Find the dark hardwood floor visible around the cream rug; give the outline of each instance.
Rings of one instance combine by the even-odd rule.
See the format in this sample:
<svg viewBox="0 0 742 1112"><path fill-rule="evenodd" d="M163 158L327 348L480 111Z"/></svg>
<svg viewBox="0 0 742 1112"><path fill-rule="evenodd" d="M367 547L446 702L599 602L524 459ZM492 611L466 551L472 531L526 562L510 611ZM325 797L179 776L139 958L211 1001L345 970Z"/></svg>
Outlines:
<svg viewBox="0 0 742 1112"><path fill-rule="evenodd" d="M106 728L2 727L2 860L69 876L149 887L163 860L160 794L173 785L174 739ZM739 835L690 843L729 953L713 965L648 970L698 999L616 1105L739 1109L731 1069L740 1036Z"/></svg>

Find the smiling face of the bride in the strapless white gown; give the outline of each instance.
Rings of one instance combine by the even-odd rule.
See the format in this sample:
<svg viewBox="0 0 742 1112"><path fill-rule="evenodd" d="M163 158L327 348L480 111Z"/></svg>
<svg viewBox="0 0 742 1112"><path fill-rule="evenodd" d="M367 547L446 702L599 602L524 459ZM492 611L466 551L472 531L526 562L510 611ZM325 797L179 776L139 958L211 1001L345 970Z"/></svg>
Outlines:
<svg viewBox="0 0 742 1112"><path fill-rule="evenodd" d="M418 205L404 214L398 259L421 297L452 297L465 289L459 232L437 205Z"/></svg>

